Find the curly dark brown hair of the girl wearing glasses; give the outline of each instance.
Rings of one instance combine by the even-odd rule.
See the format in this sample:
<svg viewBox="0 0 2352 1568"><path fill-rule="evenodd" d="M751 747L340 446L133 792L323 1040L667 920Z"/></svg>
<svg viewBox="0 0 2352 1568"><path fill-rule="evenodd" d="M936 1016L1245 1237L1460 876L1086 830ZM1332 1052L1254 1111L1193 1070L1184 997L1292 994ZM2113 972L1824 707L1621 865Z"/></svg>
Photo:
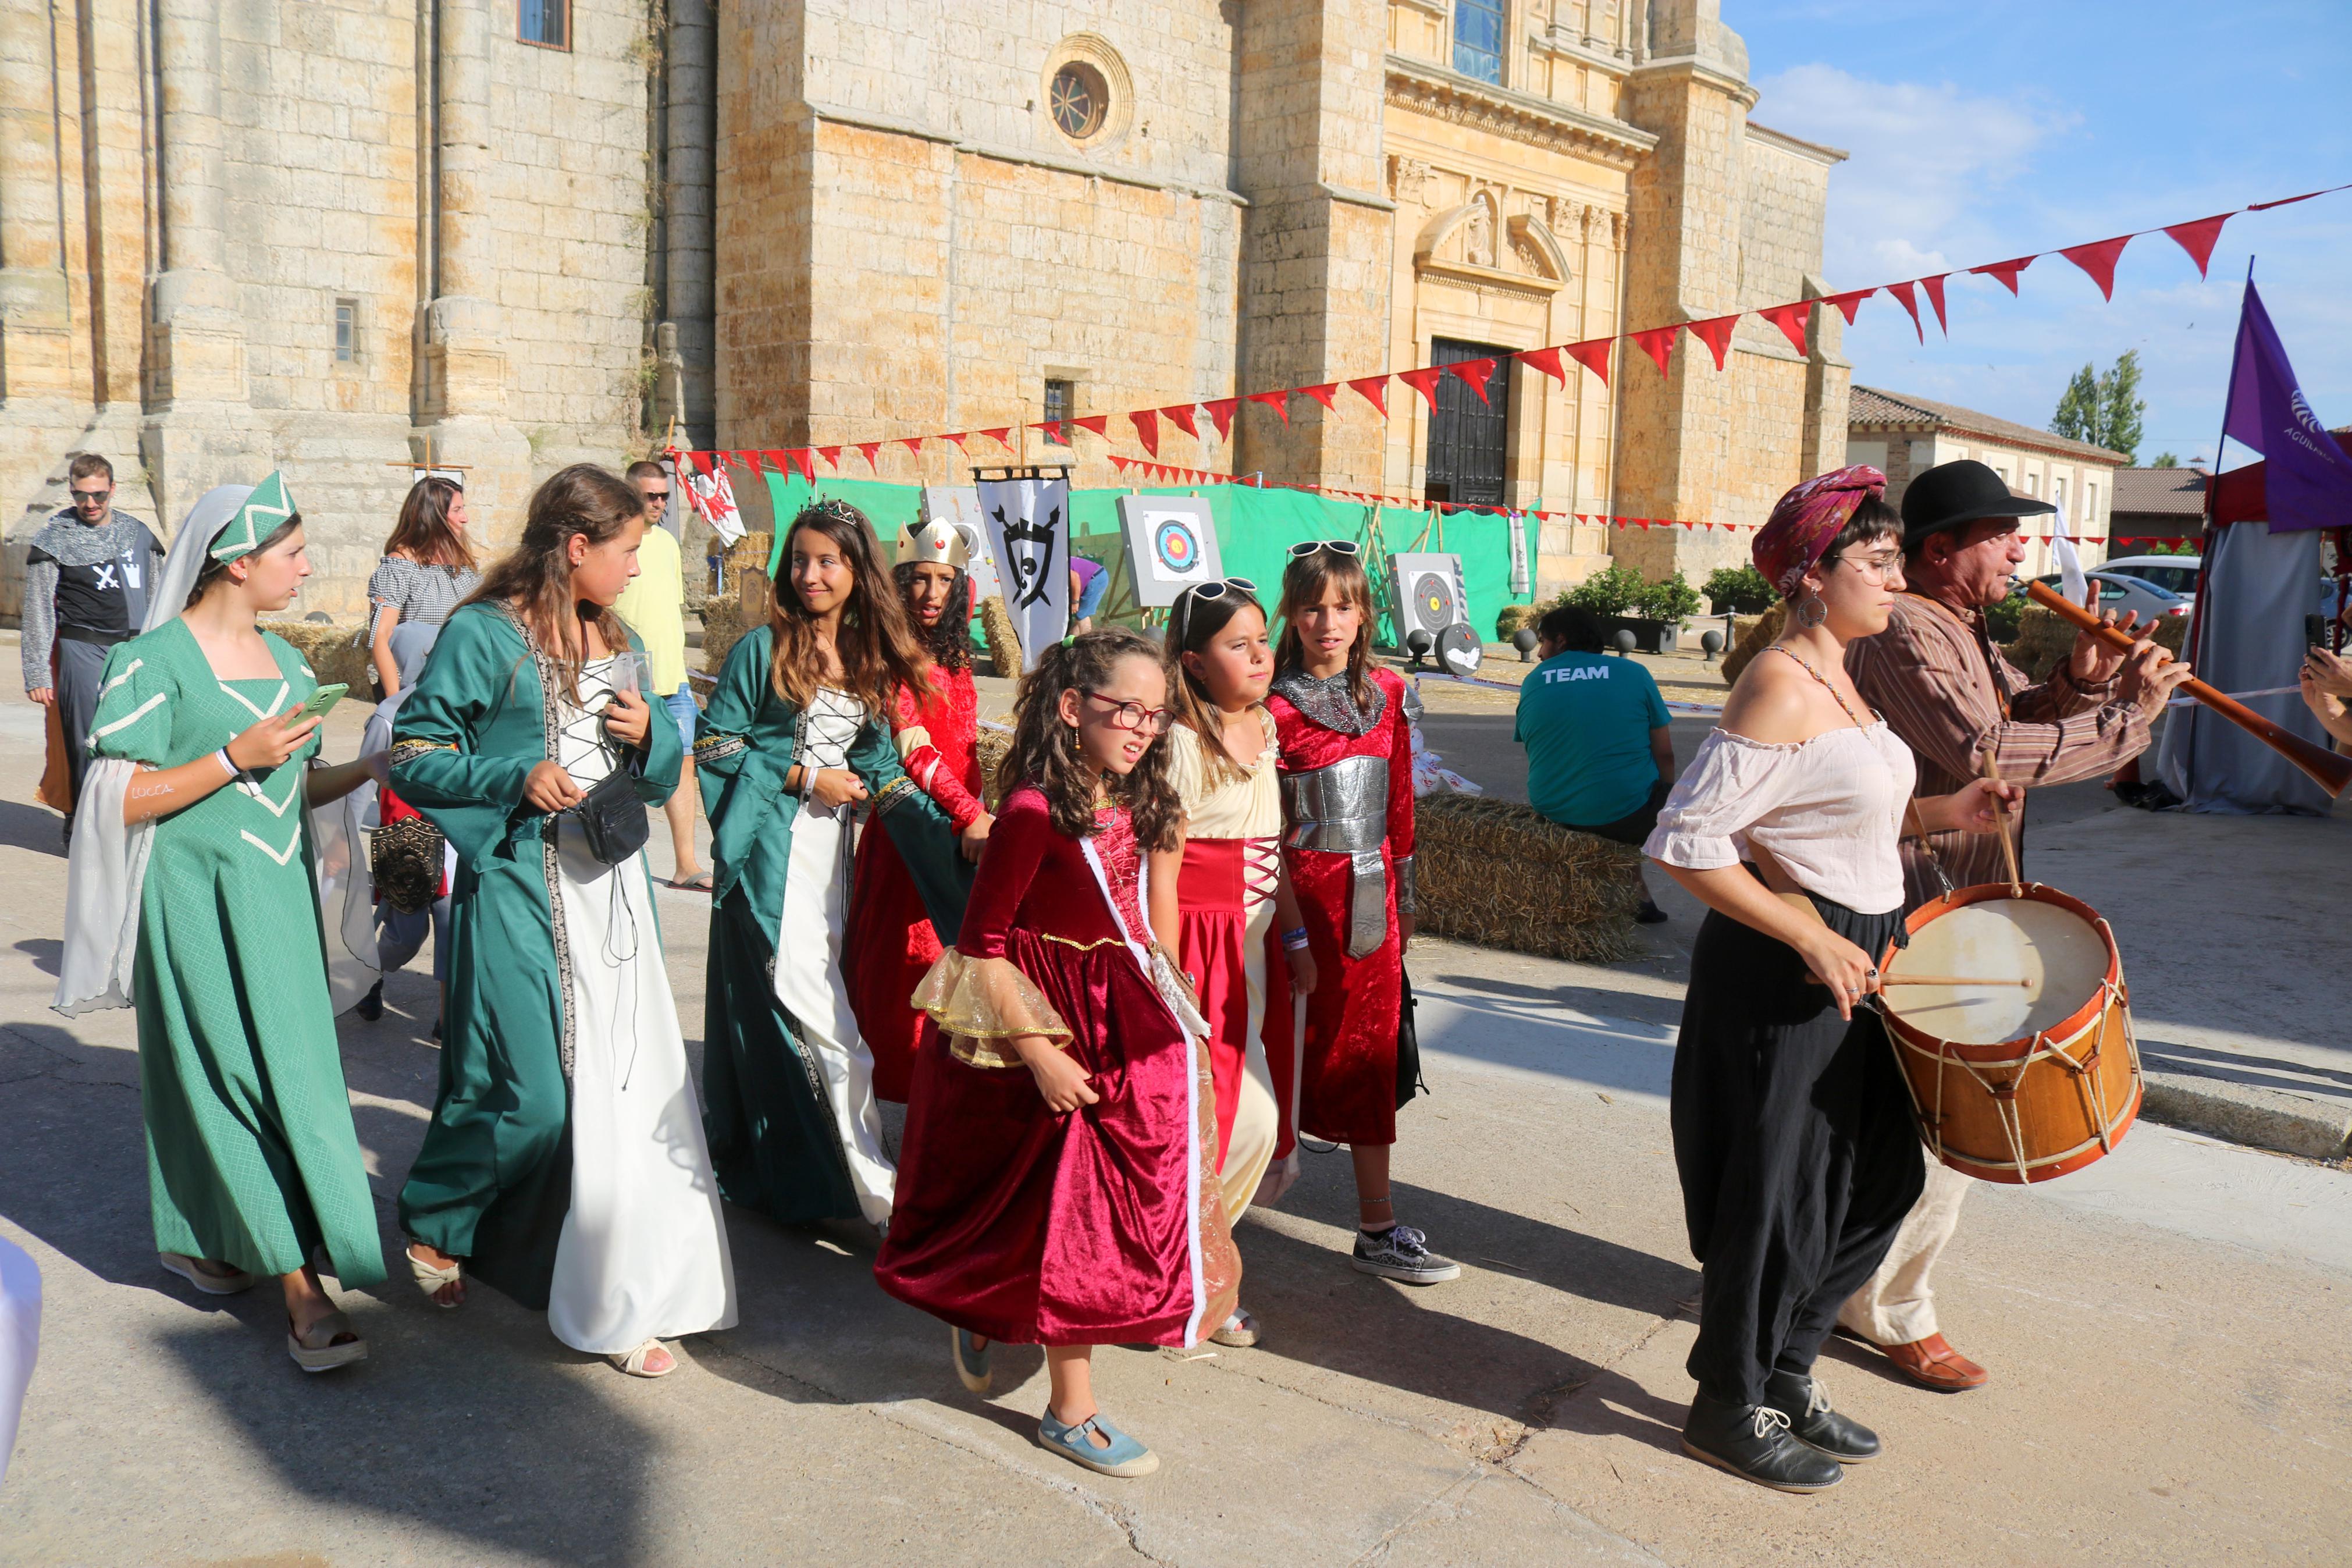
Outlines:
<svg viewBox="0 0 2352 1568"><path fill-rule="evenodd" d="M1124 625L1056 642L1037 668L1021 677L1021 696L1014 698L1014 743L997 764L997 778L1011 780L1007 792L1021 783L1037 785L1054 832L1065 839L1094 837L1094 778L1077 755L1077 729L1061 722L1061 693L1094 691L1110 679L1122 658L1160 663L1160 646ZM1124 778L1105 773L1103 790L1127 806L1143 849L1176 849L1183 802L1169 783L1164 733L1143 750Z"/></svg>

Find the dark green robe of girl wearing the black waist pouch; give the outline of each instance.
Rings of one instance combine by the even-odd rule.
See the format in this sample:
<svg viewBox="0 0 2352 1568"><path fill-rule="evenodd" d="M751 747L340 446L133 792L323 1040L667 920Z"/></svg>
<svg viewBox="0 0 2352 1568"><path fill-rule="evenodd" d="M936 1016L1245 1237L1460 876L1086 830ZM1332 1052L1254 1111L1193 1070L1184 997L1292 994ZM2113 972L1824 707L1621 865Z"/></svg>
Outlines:
<svg viewBox="0 0 2352 1568"><path fill-rule="evenodd" d="M635 635L630 649L644 651ZM532 1309L548 1305L572 1206L572 959L550 914L548 818L522 799L546 757L548 703L522 628L492 604L459 609L393 724L393 790L459 858L440 1095L400 1227ZM666 802L682 759L656 708L637 797Z"/></svg>

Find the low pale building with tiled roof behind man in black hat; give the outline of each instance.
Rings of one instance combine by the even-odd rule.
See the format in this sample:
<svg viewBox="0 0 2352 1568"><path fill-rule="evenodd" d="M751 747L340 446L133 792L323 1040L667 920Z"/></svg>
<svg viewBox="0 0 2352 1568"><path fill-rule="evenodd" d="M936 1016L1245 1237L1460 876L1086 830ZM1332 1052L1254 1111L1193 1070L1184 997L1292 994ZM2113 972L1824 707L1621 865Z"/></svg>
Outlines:
<svg viewBox="0 0 2352 1568"><path fill-rule="evenodd" d="M1912 475L1959 458L1976 458L2002 475L2011 491L2058 508L2058 517L2025 520L2032 536L2025 555L2030 576L2053 569L2044 534L2072 536L2084 562L2107 559L2114 475L2129 456L1952 402L1856 383L1846 414L1846 461L1884 470L1886 501L1900 505Z"/></svg>

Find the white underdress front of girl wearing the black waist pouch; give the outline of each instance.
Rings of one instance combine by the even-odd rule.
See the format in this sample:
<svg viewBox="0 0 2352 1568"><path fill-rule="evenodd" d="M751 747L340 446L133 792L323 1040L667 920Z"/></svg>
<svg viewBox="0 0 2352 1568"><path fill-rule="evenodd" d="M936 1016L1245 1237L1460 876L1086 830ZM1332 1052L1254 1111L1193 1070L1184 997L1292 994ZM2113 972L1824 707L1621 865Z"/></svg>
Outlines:
<svg viewBox="0 0 2352 1568"><path fill-rule="evenodd" d="M557 762L581 788L616 762L602 731L614 663L590 663L581 708L560 710ZM656 710L654 722L666 717ZM574 1060L572 1211L555 1244L548 1328L572 1349L626 1354L644 1340L731 1328L734 1260L644 853L602 865L576 818L555 820Z"/></svg>

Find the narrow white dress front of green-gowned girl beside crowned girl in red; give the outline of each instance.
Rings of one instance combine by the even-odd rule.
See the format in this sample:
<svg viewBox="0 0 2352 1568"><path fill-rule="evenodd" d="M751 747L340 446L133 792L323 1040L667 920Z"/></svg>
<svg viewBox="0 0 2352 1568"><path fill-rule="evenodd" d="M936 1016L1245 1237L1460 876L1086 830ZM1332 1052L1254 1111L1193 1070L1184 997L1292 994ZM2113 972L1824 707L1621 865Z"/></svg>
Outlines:
<svg viewBox="0 0 2352 1568"><path fill-rule="evenodd" d="M818 686L793 759L809 769L844 769L863 724L863 703ZM898 1171L882 1152L875 1058L858 1034L849 987L842 983L854 811L823 806L811 795L793 818L793 863L776 929L776 1001L800 1025L800 1044L826 1084L826 1107L842 1140L858 1213L882 1225L889 1220Z"/></svg>

